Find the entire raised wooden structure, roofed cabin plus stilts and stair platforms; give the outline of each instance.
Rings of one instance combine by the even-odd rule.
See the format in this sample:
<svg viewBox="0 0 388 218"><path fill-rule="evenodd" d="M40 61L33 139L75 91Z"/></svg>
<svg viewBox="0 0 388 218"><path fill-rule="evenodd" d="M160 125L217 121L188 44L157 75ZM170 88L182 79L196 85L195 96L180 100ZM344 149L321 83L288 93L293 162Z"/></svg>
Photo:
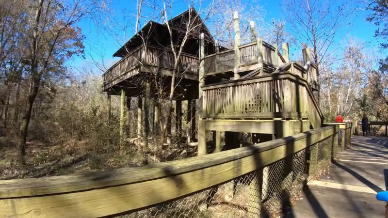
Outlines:
<svg viewBox="0 0 388 218"><path fill-rule="evenodd" d="M181 43L182 25L196 15L195 10L190 9L169 21L175 44ZM202 22L199 16L196 22ZM215 151L221 151L221 132L225 132L225 149L230 149L240 147L239 133L242 132L250 133L252 143L259 143L319 128L323 124L316 100L319 90L317 67L311 62L309 49L303 49L303 65L291 62L288 44L284 43L280 52L276 45L264 42L257 36L252 21L251 42L241 45L237 14L233 22L234 49L219 46L201 23L184 44L179 62L179 83L176 83L174 93L179 110L176 112L176 132L182 129L181 101L187 100L188 143L195 137L195 114L199 119L198 155L207 153L208 131L213 132ZM150 100L166 98L165 93L169 93L171 86L175 62L168 49L169 43L165 24L152 21L146 24L114 53L113 56L122 59L103 75L103 91L109 95L138 97L138 111L149 114ZM154 84L162 84L163 92ZM195 99L198 99L197 108ZM153 114L152 110L150 114ZM151 122L142 123L142 117L138 116L138 137L142 136L142 124L153 129L155 116L151 119L143 116L144 119ZM168 123L171 133L171 120Z"/></svg>

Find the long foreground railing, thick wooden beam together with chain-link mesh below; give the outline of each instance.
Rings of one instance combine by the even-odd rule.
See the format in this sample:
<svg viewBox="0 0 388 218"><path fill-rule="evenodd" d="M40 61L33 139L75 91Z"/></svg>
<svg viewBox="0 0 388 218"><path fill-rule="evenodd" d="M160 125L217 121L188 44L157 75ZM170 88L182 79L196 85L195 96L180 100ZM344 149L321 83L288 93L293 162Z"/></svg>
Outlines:
<svg viewBox="0 0 388 218"><path fill-rule="evenodd" d="M143 167L4 180L0 181L0 217L89 218L124 213L135 213L135 217L155 217L157 214L171 217L177 213L188 216L200 211L198 208L206 210L203 202L211 205L209 199L215 198L220 184L232 179L239 181L237 187L242 187L243 194L249 198L249 203L241 205L247 211L242 211L247 216L255 214L258 217L260 209L257 207L265 207L266 203L262 202L272 195L277 197L276 190L280 192L285 187L293 187L295 189L290 193L300 191L307 178L306 167L309 166L307 174L310 178L330 164L335 158L331 150L337 146L333 140L337 133L336 126L326 126L260 145ZM307 151L312 154L310 159L306 158ZM287 157L290 161L298 161L297 166L302 167L290 171L276 171L283 168L271 167L283 166ZM267 180L262 176L265 166L270 169ZM278 176L287 174L291 176ZM271 186L266 183L269 180ZM281 203L274 202L269 206L280 210L279 205Z"/></svg>

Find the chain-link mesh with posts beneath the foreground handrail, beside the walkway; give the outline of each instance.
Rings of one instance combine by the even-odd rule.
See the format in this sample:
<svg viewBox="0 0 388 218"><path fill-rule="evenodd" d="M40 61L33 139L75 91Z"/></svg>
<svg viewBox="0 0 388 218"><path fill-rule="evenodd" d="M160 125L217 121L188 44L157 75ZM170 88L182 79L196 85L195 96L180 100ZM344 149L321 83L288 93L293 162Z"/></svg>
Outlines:
<svg viewBox="0 0 388 218"><path fill-rule="evenodd" d="M304 184L319 176L335 156L338 136L231 181L172 202L137 211L129 218L281 217L300 198Z"/></svg>

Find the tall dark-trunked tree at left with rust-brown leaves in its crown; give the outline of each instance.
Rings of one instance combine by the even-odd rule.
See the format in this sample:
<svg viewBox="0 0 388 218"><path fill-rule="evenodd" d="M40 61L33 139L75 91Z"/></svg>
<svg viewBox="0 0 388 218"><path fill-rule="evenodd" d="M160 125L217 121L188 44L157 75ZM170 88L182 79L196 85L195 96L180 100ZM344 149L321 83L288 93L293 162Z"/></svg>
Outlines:
<svg viewBox="0 0 388 218"><path fill-rule="evenodd" d="M18 141L19 161L24 163L26 138L32 108L39 92L42 79L72 55L83 52L81 30L75 23L84 16L96 12L97 1L76 0L34 0L27 11L29 32L26 42L28 56L24 60L28 64L26 77L30 79L25 111L21 117Z"/></svg>

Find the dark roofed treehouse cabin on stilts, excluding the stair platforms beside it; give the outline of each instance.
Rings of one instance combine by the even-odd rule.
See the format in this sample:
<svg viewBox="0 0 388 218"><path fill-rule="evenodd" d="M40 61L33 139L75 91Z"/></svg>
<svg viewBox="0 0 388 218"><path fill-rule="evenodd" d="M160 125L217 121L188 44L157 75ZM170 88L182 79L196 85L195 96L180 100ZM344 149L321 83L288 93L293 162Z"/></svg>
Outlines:
<svg viewBox="0 0 388 218"><path fill-rule="evenodd" d="M122 100L127 99L127 107L130 107L130 98L138 98L138 137L148 135L149 131L153 131L155 122L157 122L157 109L153 109L156 105L156 99L167 99L170 87L171 78L174 69L174 55L171 50L170 38L176 49L182 45L182 38L187 28L190 25L193 31L189 32L189 37L183 46L180 61L178 63L178 72L176 88L173 100L176 101L176 132L182 130L182 105L183 100L187 100L188 112L188 142L194 140L195 130L195 99L198 98L198 55L199 55L199 35L204 32L205 46L204 51L207 54L215 53L215 41L210 34L208 28L203 24L203 21L198 16L194 8L183 12L182 14L168 21L171 28L171 35L166 24L160 24L154 21L148 22L140 31L138 31L123 47L118 49L113 57L121 57L122 59L106 73L103 74L103 91L108 93L108 101L110 95L122 95ZM221 50L226 50L220 47ZM110 103L109 103L110 104ZM179 111L178 111L179 110ZM148 114L150 118L139 115ZM157 117L155 117L157 116ZM142 120L150 120L146 125ZM168 122L168 132L171 134L171 120ZM142 132L142 126L147 129ZM169 139L167 139L169 140Z"/></svg>

